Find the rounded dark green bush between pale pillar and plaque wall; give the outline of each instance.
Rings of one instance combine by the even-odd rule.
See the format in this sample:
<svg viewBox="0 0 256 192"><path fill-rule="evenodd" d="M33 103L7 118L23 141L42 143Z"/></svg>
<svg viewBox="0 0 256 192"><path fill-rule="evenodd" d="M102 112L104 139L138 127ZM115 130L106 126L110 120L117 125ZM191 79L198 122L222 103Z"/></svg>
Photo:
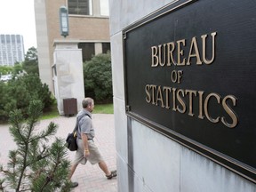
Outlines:
<svg viewBox="0 0 256 192"><path fill-rule="evenodd" d="M84 90L86 97L92 97L97 102L112 101L110 52L100 53L84 63Z"/></svg>

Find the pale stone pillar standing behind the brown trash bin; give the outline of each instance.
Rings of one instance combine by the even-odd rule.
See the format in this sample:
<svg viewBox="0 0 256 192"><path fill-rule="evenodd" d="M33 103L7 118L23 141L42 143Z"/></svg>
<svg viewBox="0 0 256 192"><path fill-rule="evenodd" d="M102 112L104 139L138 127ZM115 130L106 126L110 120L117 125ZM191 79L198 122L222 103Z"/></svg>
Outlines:
<svg viewBox="0 0 256 192"><path fill-rule="evenodd" d="M52 66L54 94L60 115L64 115L63 100L76 98L77 110L84 99L84 73L82 50L78 42L54 42L54 64Z"/></svg>

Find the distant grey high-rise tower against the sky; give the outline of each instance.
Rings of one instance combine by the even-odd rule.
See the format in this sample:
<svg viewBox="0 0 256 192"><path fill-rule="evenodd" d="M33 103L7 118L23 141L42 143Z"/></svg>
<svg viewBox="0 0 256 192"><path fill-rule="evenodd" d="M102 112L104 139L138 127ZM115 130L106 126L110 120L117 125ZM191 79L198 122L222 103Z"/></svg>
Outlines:
<svg viewBox="0 0 256 192"><path fill-rule="evenodd" d="M15 62L24 61L23 36L0 35L0 65L14 66Z"/></svg>

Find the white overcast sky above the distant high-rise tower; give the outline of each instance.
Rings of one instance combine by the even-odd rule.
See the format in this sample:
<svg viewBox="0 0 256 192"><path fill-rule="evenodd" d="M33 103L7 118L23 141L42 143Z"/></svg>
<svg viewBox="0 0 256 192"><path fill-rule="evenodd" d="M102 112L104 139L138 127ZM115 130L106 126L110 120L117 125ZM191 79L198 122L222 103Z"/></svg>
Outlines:
<svg viewBox="0 0 256 192"><path fill-rule="evenodd" d="M25 53L37 47L34 0L0 0L0 34L23 36Z"/></svg>

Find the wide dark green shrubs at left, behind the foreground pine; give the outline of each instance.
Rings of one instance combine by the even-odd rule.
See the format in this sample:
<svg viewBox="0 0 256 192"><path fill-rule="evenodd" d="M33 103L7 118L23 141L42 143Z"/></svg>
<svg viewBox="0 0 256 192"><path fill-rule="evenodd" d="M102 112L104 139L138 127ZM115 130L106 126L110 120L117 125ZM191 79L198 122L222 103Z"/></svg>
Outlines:
<svg viewBox="0 0 256 192"><path fill-rule="evenodd" d="M8 119L13 108L19 108L24 116L28 116L30 100L41 100L44 111L49 110L54 102L48 85L42 84L36 74L19 76L6 84L0 82L0 92L0 120Z"/></svg>

